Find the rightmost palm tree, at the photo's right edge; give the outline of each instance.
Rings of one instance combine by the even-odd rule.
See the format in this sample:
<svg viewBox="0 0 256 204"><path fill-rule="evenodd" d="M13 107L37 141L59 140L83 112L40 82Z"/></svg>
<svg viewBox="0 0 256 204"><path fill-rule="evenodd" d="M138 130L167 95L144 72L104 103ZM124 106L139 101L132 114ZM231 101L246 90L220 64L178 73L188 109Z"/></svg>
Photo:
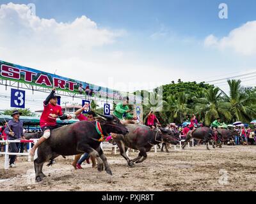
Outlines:
<svg viewBox="0 0 256 204"><path fill-rule="evenodd" d="M241 80L228 80L228 85L230 87L230 96L226 95L226 97L230 104L232 121L250 122L256 117L255 108L252 106L256 102L256 97L242 94Z"/></svg>

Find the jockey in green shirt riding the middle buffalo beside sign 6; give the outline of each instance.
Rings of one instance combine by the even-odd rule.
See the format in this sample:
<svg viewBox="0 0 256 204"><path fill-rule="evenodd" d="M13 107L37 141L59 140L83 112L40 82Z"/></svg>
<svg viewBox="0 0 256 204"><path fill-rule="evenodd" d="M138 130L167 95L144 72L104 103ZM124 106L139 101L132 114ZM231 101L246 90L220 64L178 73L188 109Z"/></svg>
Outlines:
<svg viewBox="0 0 256 204"><path fill-rule="evenodd" d="M131 112L131 110L129 110L129 98L128 97L124 97L122 99L122 102L118 103L116 105L115 111L114 111L114 115L116 117L118 117L118 119L120 120L124 120L124 119L134 119L134 117L129 113Z"/></svg>

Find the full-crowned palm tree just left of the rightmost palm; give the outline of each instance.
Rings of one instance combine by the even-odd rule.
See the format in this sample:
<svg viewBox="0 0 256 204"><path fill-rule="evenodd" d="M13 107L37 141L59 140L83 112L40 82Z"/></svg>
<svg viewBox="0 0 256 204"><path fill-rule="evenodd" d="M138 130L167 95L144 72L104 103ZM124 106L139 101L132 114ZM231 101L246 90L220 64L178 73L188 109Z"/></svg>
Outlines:
<svg viewBox="0 0 256 204"><path fill-rule="evenodd" d="M229 107L228 103L223 101L220 89L211 87L210 89L205 89L203 98L196 99L195 111L196 115L204 119L205 125L209 126L218 117L226 121L230 120Z"/></svg>

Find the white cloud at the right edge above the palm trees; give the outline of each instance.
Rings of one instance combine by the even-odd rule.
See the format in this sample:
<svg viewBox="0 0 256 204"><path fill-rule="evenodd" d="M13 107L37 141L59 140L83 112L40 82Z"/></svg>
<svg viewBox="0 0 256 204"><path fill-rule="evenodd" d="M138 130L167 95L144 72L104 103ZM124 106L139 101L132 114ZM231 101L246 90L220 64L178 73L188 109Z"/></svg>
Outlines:
<svg viewBox="0 0 256 204"><path fill-rule="evenodd" d="M211 34L205 38L204 45L218 47L220 50L230 48L241 55L256 55L256 21L237 27L221 39Z"/></svg>

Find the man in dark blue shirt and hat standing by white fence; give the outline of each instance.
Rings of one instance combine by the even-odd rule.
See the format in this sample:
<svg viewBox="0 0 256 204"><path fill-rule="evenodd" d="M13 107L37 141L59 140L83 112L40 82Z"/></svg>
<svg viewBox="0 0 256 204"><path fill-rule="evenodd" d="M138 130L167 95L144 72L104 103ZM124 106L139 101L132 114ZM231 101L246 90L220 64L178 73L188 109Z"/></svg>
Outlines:
<svg viewBox="0 0 256 204"><path fill-rule="evenodd" d="M8 122L8 126L4 129L8 140L17 140L20 138L24 138L23 134L23 122L20 121L21 112L18 110L13 110L12 117L13 119ZM10 143L10 152L18 152L20 143ZM17 156L10 156L10 167L16 167L15 159Z"/></svg>

